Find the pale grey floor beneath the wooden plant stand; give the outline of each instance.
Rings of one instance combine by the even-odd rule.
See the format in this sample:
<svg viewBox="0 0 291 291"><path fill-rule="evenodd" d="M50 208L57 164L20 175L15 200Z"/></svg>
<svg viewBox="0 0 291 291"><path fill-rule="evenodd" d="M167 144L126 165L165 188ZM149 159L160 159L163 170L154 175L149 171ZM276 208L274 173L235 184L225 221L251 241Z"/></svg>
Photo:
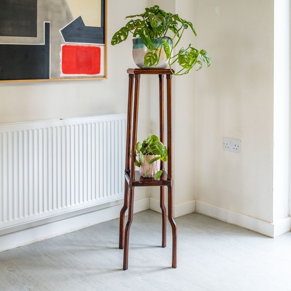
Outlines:
<svg viewBox="0 0 291 291"><path fill-rule="evenodd" d="M161 248L161 215L134 215L129 270L118 220L0 253L0 291L291 291L291 232L275 239L201 214L176 219Z"/></svg>

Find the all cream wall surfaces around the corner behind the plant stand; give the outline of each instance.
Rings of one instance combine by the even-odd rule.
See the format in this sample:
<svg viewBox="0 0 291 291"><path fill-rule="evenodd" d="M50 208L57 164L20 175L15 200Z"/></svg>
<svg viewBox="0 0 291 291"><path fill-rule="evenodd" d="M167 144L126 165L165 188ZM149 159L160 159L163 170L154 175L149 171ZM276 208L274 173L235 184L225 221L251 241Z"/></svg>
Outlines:
<svg viewBox="0 0 291 291"><path fill-rule="evenodd" d="M108 43L125 16L153 4L194 21L194 44L212 59L173 78L175 215L197 210L272 236L274 1L108 0ZM108 45L107 80L0 83L0 123L125 113L130 50L130 41ZM140 138L156 130L156 85L141 82L139 114L149 120ZM241 153L223 151L223 137L240 139ZM156 190L150 208L159 210Z"/></svg>

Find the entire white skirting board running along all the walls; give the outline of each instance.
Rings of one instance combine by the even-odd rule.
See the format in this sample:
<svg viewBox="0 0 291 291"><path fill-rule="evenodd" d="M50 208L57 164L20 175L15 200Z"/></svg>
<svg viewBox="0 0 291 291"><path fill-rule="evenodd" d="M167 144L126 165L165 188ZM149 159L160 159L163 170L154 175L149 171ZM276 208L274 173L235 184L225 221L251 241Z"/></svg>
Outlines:
<svg viewBox="0 0 291 291"><path fill-rule="evenodd" d="M57 235L62 235L84 227L109 221L111 219L116 219L119 217L119 212L122 205L123 199L120 199L114 203L111 202L111 206L106 207L106 205L104 205L104 208L96 211L82 213L63 220L53 221L40 226L34 226L1 235L0 251L26 245L32 242L42 241ZM167 207L167 204L165 206ZM134 201L135 213L147 209L161 213L160 201L148 197ZM241 226L272 238L291 230L291 217L272 224L195 200L174 206L174 217L179 217L193 212L205 214L218 220Z"/></svg>

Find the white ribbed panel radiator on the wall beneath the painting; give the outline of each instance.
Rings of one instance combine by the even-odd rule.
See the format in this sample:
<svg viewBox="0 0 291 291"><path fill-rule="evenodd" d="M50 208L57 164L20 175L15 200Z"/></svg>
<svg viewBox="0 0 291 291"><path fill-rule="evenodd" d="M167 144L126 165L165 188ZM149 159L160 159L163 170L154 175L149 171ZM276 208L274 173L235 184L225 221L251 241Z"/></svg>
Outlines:
<svg viewBox="0 0 291 291"><path fill-rule="evenodd" d="M0 234L122 198L125 137L126 114L0 125Z"/></svg>

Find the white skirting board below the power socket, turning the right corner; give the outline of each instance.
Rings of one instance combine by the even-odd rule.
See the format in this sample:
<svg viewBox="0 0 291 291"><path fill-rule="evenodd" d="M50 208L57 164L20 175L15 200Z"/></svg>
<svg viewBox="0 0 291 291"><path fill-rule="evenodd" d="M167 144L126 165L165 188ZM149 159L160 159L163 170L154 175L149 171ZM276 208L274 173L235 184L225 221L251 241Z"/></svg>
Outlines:
<svg viewBox="0 0 291 291"><path fill-rule="evenodd" d="M272 238L291 230L291 217L287 217L275 224L268 223L257 218L225 210L200 201L196 201L196 212L259 232Z"/></svg>

